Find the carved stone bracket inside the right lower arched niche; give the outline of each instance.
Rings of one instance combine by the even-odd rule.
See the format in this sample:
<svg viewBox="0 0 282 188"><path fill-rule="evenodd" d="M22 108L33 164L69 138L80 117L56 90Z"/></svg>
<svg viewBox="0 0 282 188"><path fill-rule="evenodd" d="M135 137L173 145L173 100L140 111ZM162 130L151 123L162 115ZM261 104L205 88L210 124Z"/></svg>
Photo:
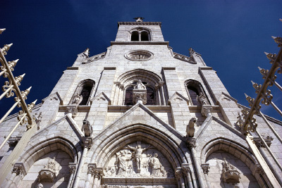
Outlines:
<svg viewBox="0 0 282 188"><path fill-rule="evenodd" d="M235 167L223 158L223 168L222 168L222 179L223 182L240 182L240 173L235 170Z"/></svg>

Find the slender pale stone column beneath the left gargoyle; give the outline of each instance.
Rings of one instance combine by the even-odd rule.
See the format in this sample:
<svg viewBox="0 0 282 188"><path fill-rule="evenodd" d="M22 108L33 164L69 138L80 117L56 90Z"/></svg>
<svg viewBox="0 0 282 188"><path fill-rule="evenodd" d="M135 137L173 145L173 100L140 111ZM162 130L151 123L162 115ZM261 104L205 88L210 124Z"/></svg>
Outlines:
<svg viewBox="0 0 282 188"><path fill-rule="evenodd" d="M80 181L81 170L82 170L83 165L84 165L85 156L87 154L88 149L90 149L91 146L92 146L92 138L91 137L84 137L84 139L85 139L85 141L84 141L84 149L82 151L82 156L80 158L80 163L78 164L78 173L76 173L75 182L73 183L73 187L74 188L78 187L78 183Z"/></svg>

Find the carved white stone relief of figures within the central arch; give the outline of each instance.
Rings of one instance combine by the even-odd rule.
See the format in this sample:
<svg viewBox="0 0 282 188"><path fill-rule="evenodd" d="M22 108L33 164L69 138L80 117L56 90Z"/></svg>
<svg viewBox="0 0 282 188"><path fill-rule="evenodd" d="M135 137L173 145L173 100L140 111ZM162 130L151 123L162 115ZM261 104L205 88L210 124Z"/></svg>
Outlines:
<svg viewBox="0 0 282 188"><path fill-rule="evenodd" d="M104 170L106 177L174 177L171 165L161 152L141 142L116 152Z"/></svg>

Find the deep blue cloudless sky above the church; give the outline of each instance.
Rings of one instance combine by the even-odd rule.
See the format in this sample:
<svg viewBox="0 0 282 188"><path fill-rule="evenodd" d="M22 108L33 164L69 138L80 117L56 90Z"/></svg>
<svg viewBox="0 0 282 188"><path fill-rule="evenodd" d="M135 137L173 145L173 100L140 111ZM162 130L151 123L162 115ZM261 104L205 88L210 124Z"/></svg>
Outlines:
<svg viewBox="0 0 282 188"><path fill-rule="evenodd" d="M214 68L228 92L247 106L244 93L255 97L250 80L262 84L257 66L270 68L264 51L278 53L271 35L282 37L282 1L11 1L0 2L0 45L13 42L6 56L19 58L13 72L26 73L20 89L32 86L27 102L41 101L77 54L106 51L118 21L162 22L164 39L173 51L188 55L191 47ZM282 84L282 75L277 81ZM4 78L0 78L3 83ZM272 92L276 90L270 88ZM274 102L282 107L282 95ZM1 111L13 99L0 102ZM269 107L264 112L272 114ZM274 113L273 113L274 114ZM279 115L274 115L281 120Z"/></svg>

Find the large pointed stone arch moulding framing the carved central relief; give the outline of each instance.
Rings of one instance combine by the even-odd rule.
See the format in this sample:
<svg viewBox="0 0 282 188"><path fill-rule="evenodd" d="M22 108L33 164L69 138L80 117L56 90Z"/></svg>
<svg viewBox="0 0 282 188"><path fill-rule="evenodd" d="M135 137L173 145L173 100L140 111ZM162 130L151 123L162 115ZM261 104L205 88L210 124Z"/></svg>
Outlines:
<svg viewBox="0 0 282 188"><path fill-rule="evenodd" d="M106 134L101 134L97 141L98 139L101 143L99 143L99 147L94 148L91 161L101 165L101 167L104 167L117 151L136 141L142 141L157 148L173 168L180 168L182 163L188 163L189 160L185 153L188 155L190 151L183 141L173 140L165 132L149 125L125 125L121 130L114 131L111 129ZM180 144L184 147L179 146Z"/></svg>

